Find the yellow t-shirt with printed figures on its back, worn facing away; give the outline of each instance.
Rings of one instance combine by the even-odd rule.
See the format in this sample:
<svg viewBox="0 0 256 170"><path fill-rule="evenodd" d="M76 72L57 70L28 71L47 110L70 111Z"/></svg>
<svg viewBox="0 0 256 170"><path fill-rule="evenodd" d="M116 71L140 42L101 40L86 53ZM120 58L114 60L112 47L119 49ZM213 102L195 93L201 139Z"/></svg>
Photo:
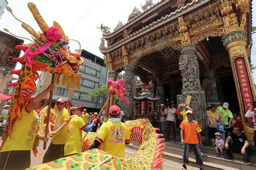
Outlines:
<svg viewBox="0 0 256 170"><path fill-rule="evenodd" d="M103 140L102 150L114 157L124 157L125 140L130 140L130 131L119 118L110 118L99 128L97 137Z"/></svg>

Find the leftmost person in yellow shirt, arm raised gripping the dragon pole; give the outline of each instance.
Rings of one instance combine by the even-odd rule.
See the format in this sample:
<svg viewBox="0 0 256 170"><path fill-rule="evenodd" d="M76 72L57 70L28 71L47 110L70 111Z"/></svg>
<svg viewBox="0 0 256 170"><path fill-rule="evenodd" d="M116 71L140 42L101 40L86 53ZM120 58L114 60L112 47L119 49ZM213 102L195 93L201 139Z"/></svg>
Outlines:
<svg viewBox="0 0 256 170"><path fill-rule="evenodd" d="M15 120L12 125L11 138L8 136L0 151L0 169L25 169L30 167L30 153L35 139L48 141L37 133L40 118L35 109L41 107L40 102L49 91L54 89L54 84L41 94L32 98L22 109L22 118Z"/></svg>

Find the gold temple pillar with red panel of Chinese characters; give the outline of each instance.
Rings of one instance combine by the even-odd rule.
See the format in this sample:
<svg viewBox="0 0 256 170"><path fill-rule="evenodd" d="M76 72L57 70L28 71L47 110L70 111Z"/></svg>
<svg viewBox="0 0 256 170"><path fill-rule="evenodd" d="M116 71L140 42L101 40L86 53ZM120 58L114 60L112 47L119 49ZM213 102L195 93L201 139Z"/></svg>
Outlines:
<svg viewBox="0 0 256 170"><path fill-rule="evenodd" d="M233 11L234 5L232 3L241 12L241 15L237 16ZM250 23L250 21L247 21L248 6L248 1L223 1L221 3L225 30L222 41L230 56L245 135L248 139L253 139L253 123L247 121L245 117L246 111L255 100L254 82L246 52L247 37L244 30L246 23Z"/></svg>

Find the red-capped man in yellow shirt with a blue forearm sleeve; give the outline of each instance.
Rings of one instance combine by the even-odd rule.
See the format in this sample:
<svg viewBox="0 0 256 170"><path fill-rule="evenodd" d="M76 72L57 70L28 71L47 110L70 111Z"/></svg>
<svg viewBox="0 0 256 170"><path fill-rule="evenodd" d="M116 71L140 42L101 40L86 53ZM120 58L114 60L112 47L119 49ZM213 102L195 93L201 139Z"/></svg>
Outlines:
<svg viewBox="0 0 256 170"><path fill-rule="evenodd" d="M80 105L79 107L73 106L70 109L71 117L64 147L64 155L66 157L73 154L82 153L82 130L85 132L89 132L96 122L95 120L87 126L83 118L81 117L82 109L82 105Z"/></svg>

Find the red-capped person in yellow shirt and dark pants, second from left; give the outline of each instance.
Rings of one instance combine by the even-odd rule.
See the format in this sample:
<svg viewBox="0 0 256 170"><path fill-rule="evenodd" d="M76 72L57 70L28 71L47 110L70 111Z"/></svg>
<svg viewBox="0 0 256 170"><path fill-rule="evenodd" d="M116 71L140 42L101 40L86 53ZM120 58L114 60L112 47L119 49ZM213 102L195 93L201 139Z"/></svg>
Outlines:
<svg viewBox="0 0 256 170"><path fill-rule="evenodd" d="M63 98L59 98L56 103L58 115L53 131L50 132L52 141L44 155L43 164L64 157L64 145L70 116L69 111L65 108L65 100Z"/></svg>

